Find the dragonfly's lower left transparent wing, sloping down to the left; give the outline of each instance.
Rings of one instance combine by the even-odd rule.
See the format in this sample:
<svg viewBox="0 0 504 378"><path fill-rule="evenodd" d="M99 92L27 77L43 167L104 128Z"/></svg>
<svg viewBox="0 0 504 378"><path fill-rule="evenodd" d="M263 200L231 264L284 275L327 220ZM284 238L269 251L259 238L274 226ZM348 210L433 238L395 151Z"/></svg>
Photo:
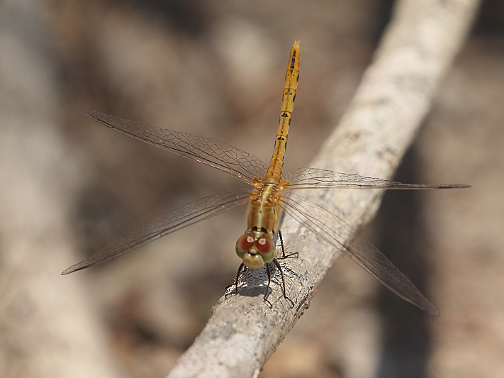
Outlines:
<svg viewBox="0 0 504 378"><path fill-rule="evenodd" d="M142 226L123 238L107 245L94 255L65 269L62 274L69 274L91 267L91 265L98 264L99 262L110 260L124 252L128 252L128 250L149 243L164 235L216 216L235 206L245 204L248 201L248 193L248 189L238 189L189 202L189 204L171 211L167 215L157 218L152 223Z"/></svg>

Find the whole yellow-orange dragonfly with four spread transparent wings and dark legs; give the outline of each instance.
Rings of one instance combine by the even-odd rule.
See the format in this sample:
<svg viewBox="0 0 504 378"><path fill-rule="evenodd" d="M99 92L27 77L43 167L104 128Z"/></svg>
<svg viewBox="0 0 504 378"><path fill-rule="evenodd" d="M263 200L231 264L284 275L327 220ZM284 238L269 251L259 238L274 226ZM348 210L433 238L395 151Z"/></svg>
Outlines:
<svg viewBox="0 0 504 378"><path fill-rule="evenodd" d="M117 257L133 248L149 243L181 228L216 216L235 206L248 204L247 228L235 245L235 252L242 260L235 280L244 269L266 267L268 287L264 294L267 301L271 281L270 265L281 272L278 260L285 257L279 222L282 212L291 216L325 242L349 256L366 272L399 297L418 308L439 315L437 308L383 255L378 248L360 235L340 216L295 193L299 189L453 189L468 188L466 184L403 184L359 174L348 174L318 168L298 168L283 174L284 155L291 116L298 87L300 68L299 41L295 41L289 55L285 85L279 118L279 127L274 143L274 151L269 165L248 152L235 148L213 138L200 138L188 133L150 126L110 116L98 111L88 114L103 125L120 131L133 138L164 148L204 165L219 169L240 179L249 186L225 193L206 196L190 202L179 209L167 213L152 223L142 226L123 238L106 245L94 255L65 269L62 274L76 272L92 265ZM279 235L280 252L274 240ZM281 272L282 283L285 282Z"/></svg>

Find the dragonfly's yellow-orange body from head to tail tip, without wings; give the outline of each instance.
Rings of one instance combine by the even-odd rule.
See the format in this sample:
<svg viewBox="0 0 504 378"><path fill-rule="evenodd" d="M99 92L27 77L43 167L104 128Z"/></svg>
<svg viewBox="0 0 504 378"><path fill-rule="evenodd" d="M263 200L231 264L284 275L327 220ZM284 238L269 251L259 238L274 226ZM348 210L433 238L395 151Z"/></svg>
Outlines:
<svg viewBox="0 0 504 378"><path fill-rule="evenodd" d="M299 41L296 40L289 56L289 66L285 75L279 129L276 133L273 156L264 178L254 178L255 189L250 192L250 203L247 209L247 230L245 235L238 239L236 245L237 254L250 269L259 269L276 257L272 240L279 230L280 191L289 186L289 182L281 181L281 174L298 87L300 55ZM271 248L263 251L258 243L267 244Z"/></svg>

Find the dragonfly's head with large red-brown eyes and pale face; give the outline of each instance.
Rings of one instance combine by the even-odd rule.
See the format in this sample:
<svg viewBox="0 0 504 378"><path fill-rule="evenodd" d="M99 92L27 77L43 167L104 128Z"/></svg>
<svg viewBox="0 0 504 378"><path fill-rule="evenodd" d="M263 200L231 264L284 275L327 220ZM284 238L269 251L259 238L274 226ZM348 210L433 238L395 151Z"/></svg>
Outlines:
<svg viewBox="0 0 504 378"><path fill-rule="evenodd" d="M236 241L236 254L246 267L259 269L264 264L273 261L276 255L276 248L269 235L264 233L246 232Z"/></svg>

